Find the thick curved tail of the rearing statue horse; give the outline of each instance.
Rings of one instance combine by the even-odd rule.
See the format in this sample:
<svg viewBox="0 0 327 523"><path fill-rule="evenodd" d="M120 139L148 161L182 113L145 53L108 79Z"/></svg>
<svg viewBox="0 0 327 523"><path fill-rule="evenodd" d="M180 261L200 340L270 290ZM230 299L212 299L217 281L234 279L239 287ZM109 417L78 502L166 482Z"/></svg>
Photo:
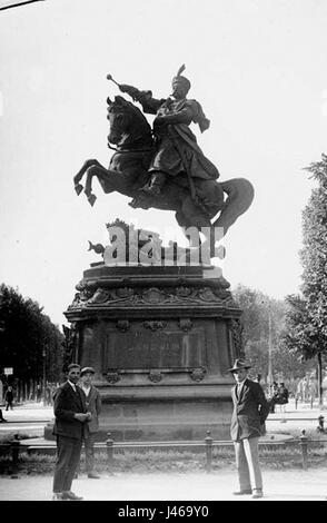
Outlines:
<svg viewBox="0 0 327 523"><path fill-rule="evenodd" d="M231 180L219 182L227 199L219 217L214 221L212 227L222 227L226 235L229 227L242 215L251 205L255 189L246 178L232 178Z"/></svg>

